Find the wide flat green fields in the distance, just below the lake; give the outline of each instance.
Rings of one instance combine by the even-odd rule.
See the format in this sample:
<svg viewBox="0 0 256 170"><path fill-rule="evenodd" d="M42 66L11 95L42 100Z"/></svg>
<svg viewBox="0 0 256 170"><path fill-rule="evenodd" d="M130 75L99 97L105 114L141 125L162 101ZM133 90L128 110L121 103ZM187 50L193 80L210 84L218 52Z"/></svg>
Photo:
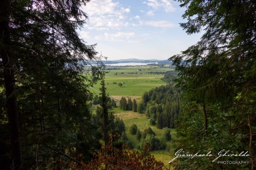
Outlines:
<svg viewBox="0 0 256 170"><path fill-rule="evenodd" d="M166 83L160 80L163 74L171 68L159 68L157 66L107 66L105 83L109 96L142 96L157 86ZM158 74L156 74L158 73ZM119 83L123 86L119 87ZM95 94L99 94L100 82L93 87Z"/></svg>

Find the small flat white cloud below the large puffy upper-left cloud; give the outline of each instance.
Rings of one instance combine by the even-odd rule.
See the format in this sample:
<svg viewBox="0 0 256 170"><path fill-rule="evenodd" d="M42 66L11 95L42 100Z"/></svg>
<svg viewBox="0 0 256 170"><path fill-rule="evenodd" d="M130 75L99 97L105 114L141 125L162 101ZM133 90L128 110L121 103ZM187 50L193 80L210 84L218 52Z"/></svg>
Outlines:
<svg viewBox="0 0 256 170"><path fill-rule="evenodd" d="M135 37L135 33L133 32L117 32L113 34L104 33L103 35L97 35L95 36L95 39L101 40L101 41L127 41L127 42L133 42L131 41L131 38Z"/></svg>

